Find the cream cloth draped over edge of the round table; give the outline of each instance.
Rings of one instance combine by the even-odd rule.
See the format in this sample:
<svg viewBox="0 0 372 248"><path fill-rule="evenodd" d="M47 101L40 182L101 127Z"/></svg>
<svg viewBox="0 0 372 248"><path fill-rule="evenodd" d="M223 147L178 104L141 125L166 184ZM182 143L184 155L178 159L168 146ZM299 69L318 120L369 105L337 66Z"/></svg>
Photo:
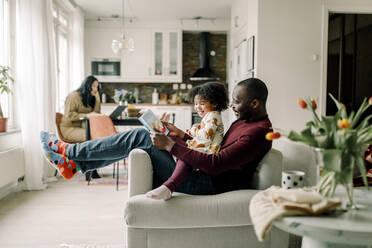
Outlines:
<svg viewBox="0 0 372 248"><path fill-rule="evenodd" d="M249 212L257 238L263 241L275 219L289 215L317 215L340 205L339 199L325 198L309 188L272 186L252 197Z"/></svg>

